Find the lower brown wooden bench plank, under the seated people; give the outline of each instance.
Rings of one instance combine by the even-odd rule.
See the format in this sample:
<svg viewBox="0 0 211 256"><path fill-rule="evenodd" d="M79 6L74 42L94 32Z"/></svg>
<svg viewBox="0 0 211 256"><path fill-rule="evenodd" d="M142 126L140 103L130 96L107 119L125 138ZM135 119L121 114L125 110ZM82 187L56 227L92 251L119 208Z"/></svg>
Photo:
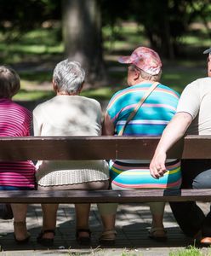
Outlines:
<svg viewBox="0 0 211 256"><path fill-rule="evenodd" d="M9 203L138 203L149 201L211 201L211 189L0 191L0 202Z"/></svg>

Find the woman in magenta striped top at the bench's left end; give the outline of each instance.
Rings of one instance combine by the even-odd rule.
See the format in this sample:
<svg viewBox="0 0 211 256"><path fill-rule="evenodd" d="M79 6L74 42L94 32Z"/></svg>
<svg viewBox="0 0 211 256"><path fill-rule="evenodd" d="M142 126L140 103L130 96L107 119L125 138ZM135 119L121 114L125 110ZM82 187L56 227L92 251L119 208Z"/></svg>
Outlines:
<svg viewBox="0 0 211 256"><path fill-rule="evenodd" d="M0 136L30 135L31 113L12 101L20 90L19 75L9 67L0 67ZM35 166L31 161L0 161L0 190L26 190L35 187ZM14 240L26 243L26 204L11 204L14 214Z"/></svg>

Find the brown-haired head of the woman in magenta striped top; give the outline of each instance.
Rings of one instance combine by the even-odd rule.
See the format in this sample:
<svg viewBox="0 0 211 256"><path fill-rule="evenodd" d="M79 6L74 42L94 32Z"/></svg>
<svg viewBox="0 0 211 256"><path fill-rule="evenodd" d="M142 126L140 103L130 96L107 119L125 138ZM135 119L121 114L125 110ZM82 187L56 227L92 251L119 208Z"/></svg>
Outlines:
<svg viewBox="0 0 211 256"><path fill-rule="evenodd" d="M0 66L0 97L11 98L20 90L20 77L14 69Z"/></svg>

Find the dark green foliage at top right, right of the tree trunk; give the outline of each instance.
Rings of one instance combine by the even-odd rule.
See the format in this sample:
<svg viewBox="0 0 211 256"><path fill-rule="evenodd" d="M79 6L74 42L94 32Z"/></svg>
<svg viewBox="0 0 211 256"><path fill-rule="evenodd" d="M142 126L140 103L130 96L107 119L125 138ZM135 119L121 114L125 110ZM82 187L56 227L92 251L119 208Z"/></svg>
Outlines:
<svg viewBox="0 0 211 256"><path fill-rule="evenodd" d="M188 32L191 22L200 20L207 28L207 38L210 38L209 0L131 0L121 1L121 4L104 0L103 4L103 20L106 20L106 25L114 27L113 37L117 36L115 25L119 19L135 20L144 26L151 46L171 59L183 54L180 52L180 38Z"/></svg>

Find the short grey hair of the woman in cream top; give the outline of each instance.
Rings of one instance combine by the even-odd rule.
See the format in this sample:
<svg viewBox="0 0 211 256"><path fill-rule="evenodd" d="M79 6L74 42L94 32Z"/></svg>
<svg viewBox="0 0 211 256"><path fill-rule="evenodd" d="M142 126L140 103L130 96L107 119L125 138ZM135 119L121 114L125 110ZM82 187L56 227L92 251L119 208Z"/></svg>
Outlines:
<svg viewBox="0 0 211 256"><path fill-rule="evenodd" d="M66 59L56 65L53 78L60 91L76 93L82 87L85 71L79 62Z"/></svg>

